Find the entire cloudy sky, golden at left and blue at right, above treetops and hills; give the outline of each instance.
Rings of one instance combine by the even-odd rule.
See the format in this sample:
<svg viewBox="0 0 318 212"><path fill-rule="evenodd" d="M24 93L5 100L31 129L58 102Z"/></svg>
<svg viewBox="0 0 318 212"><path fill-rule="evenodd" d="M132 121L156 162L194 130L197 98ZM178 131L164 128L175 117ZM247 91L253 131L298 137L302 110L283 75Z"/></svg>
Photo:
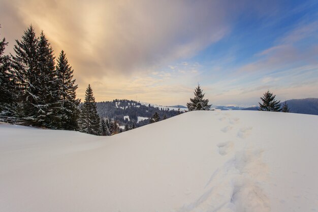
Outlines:
<svg viewBox="0 0 318 212"><path fill-rule="evenodd" d="M84 99L216 105L318 97L317 1L0 0L0 38L32 24L64 50Z"/></svg>

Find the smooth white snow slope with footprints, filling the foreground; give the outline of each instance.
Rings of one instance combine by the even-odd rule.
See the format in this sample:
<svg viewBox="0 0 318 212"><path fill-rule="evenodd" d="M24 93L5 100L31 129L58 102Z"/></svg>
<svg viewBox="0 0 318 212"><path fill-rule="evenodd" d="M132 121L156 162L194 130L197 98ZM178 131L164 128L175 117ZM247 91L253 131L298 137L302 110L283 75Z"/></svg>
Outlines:
<svg viewBox="0 0 318 212"><path fill-rule="evenodd" d="M189 112L114 136L0 125L1 211L317 211L318 116Z"/></svg>

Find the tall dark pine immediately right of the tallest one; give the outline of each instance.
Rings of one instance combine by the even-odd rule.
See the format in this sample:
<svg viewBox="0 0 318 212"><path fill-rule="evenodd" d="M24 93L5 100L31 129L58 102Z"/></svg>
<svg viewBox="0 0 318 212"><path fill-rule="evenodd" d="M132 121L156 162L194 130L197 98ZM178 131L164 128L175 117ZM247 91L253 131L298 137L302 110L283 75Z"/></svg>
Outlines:
<svg viewBox="0 0 318 212"><path fill-rule="evenodd" d="M57 78L53 50L43 31L38 42L38 69L39 69L39 98L36 122L39 126L57 129L60 128L61 99L59 94L59 79Z"/></svg>

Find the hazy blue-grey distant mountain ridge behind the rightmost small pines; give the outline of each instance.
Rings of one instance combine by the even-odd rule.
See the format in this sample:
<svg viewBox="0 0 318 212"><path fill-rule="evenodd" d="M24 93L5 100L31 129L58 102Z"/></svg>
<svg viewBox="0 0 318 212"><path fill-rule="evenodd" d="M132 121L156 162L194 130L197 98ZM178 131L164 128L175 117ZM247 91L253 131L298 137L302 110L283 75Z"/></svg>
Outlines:
<svg viewBox="0 0 318 212"><path fill-rule="evenodd" d="M282 105L284 103L281 102ZM318 115L318 98L290 99L287 100L290 113ZM258 107L245 108L245 111L257 111Z"/></svg>

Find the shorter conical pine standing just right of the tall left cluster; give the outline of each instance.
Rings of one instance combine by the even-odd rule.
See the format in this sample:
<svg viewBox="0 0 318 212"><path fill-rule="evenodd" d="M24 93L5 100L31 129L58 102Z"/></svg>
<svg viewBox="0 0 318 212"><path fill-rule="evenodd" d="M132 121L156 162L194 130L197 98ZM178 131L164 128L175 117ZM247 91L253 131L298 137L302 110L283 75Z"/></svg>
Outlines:
<svg viewBox="0 0 318 212"><path fill-rule="evenodd" d="M88 134L100 134L100 117L97 114L96 101L93 90L88 85L85 93L85 101L80 113L80 131Z"/></svg>

